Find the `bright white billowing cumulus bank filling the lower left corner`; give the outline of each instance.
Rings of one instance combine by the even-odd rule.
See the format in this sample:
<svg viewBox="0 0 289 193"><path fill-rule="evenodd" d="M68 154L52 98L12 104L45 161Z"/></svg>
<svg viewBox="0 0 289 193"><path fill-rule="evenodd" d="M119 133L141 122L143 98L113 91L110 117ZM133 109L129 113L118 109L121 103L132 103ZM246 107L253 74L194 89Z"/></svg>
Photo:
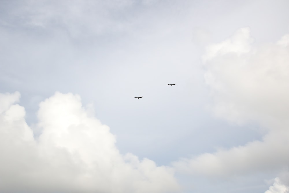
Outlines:
<svg viewBox="0 0 289 193"><path fill-rule="evenodd" d="M71 93L40 103L39 138L19 93L0 95L1 192L177 192L172 168L121 155L115 136Z"/></svg>

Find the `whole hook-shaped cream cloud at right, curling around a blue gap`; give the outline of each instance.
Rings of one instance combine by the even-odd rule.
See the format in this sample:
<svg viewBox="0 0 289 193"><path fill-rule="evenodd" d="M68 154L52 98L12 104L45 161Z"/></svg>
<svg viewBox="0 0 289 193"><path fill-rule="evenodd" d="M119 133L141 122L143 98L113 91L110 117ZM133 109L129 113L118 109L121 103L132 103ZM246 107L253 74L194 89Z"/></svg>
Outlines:
<svg viewBox="0 0 289 193"><path fill-rule="evenodd" d="M219 177L288 167L288 35L261 46L254 46L252 40L249 28L242 28L208 46L204 77L217 117L238 124L254 121L267 133L261 141L181 159L174 163L179 171Z"/></svg>

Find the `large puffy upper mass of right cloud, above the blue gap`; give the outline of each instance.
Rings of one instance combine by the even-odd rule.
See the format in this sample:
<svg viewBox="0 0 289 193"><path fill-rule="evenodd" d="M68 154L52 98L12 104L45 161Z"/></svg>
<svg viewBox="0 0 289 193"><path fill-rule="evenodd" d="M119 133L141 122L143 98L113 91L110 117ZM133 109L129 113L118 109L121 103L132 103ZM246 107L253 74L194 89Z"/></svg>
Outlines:
<svg viewBox="0 0 289 193"><path fill-rule="evenodd" d="M208 46L205 81L213 111L232 122L254 120L268 128L287 127L289 114L288 35L276 44L253 47L248 28Z"/></svg>

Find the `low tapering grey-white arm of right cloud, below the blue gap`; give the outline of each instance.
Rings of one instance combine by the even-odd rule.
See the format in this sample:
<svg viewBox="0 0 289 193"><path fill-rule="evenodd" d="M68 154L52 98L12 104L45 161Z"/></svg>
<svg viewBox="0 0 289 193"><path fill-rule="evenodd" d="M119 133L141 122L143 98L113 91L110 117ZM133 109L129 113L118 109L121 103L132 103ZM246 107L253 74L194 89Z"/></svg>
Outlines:
<svg viewBox="0 0 289 193"><path fill-rule="evenodd" d="M181 172L209 177L282 170L289 163L289 155L286 153L289 151L288 139L289 132L269 133L263 141L181 159L174 166Z"/></svg>

